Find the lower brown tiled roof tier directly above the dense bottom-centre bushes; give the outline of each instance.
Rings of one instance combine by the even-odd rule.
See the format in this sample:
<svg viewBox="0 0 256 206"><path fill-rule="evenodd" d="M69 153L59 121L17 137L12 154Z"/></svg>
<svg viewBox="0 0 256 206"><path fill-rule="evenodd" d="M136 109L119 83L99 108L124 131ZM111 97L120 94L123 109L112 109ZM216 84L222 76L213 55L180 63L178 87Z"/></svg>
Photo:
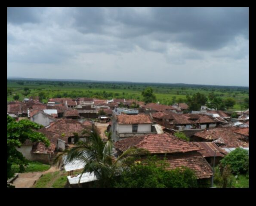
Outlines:
<svg viewBox="0 0 256 206"><path fill-rule="evenodd" d="M169 170L182 166L194 170L197 179L210 178L213 175L212 168L199 153L168 155L165 161L170 165Z"/></svg>

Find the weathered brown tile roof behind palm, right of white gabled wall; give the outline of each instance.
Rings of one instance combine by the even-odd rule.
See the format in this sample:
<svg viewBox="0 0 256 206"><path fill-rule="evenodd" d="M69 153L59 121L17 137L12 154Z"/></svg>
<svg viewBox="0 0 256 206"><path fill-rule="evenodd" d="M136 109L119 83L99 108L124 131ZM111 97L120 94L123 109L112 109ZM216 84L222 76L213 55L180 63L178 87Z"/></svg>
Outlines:
<svg viewBox="0 0 256 206"><path fill-rule="evenodd" d="M78 133L79 136L86 136L82 135L82 131L84 129L86 129L86 126L79 121L73 119L60 119L58 121L52 122L46 130L56 132L61 136L63 135L64 137L70 137L74 136L74 132Z"/></svg>

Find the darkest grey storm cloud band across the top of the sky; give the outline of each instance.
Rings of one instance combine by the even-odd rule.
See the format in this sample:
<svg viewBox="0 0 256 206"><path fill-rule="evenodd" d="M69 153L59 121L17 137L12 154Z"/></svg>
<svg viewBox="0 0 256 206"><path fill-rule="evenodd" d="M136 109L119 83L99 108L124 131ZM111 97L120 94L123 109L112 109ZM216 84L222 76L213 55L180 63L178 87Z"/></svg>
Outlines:
<svg viewBox="0 0 256 206"><path fill-rule="evenodd" d="M70 26L82 33L121 39L147 35L156 41L212 50L237 35L248 39L248 12L248 8L64 8L52 19L56 24L63 23L58 15L73 19ZM15 24L48 21L43 13L47 8L9 8L7 19Z"/></svg>

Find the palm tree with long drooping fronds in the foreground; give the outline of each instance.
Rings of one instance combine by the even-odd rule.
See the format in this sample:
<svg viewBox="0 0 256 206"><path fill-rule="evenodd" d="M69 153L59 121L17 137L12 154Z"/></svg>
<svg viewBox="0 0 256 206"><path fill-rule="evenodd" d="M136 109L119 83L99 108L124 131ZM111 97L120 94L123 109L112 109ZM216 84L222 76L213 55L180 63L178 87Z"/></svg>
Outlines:
<svg viewBox="0 0 256 206"><path fill-rule="evenodd" d="M98 179L97 187L111 187L113 178L118 176L125 167L133 164L136 155L147 153L141 148L128 148L119 157L116 157L111 133L108 133L106 142L101 139L96 129L85 130L84 133L88 134L86 142L77 142L70 150L59 154L54 164L60 167L63 164L63 156L66 156L65 164L73 160L82 161L84 167L80 179L83 173L94 172Z"/></svg>

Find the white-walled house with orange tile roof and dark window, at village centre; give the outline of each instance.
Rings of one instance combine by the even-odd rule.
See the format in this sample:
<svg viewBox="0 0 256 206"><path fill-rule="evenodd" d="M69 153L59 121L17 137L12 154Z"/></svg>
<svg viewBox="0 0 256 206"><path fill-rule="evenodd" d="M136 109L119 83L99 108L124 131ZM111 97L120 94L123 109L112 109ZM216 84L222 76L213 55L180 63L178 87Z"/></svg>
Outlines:
<svg viewBox="0 0 256 206"><path fill-rule="evenodd" d="M141 136L148 133L157 133L149 115L114 115L112 118L112 139Z"/></svg>

